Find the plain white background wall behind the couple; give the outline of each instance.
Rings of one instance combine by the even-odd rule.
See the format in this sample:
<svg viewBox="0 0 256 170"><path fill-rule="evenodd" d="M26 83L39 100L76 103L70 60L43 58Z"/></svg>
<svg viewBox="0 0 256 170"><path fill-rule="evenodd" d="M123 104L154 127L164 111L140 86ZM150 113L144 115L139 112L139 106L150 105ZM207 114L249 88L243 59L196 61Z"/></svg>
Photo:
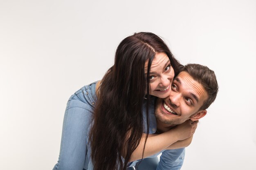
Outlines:
<svg viewBox="0 0 256 170"><path fill-rule="evenodd" d="M0 0L1 170L53 168L68 98L138 31L218 79L182 170L256 169L256 1Z"/></svg>

